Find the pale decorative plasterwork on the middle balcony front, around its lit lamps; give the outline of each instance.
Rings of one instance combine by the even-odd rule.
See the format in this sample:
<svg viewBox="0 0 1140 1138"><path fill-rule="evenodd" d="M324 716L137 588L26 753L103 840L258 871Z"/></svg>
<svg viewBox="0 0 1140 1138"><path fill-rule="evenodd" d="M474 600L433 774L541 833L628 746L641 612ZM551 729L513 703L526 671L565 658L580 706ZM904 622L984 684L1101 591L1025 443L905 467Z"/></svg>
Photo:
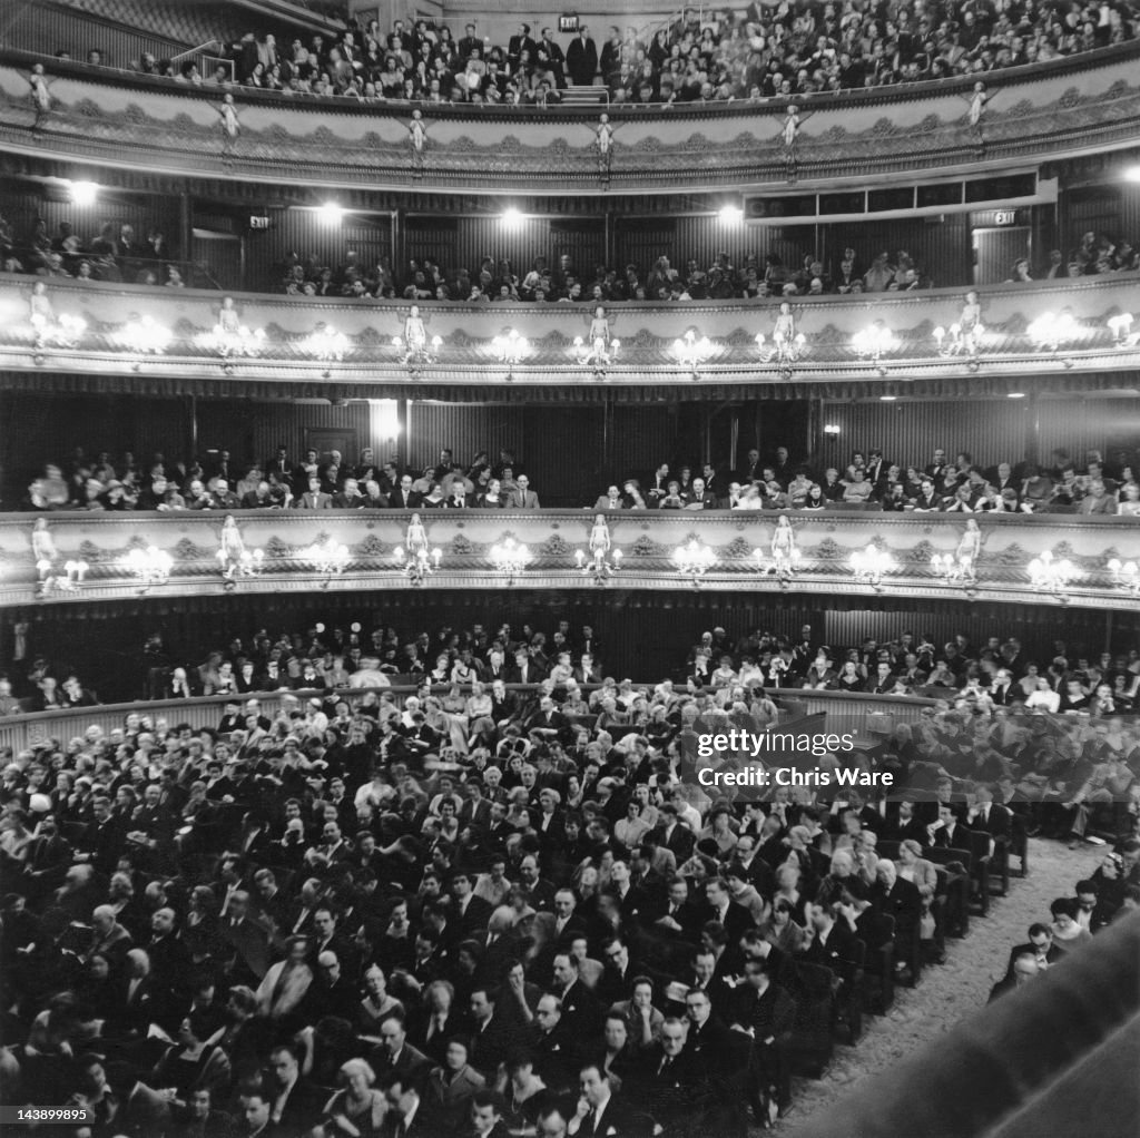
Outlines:
<svg viewBox="0 0 1140 1138"><path fill-rule="evenodd" d="M589 306L423 304L427 334L439 338L430 363L407 366L392 338L404 328L408 306L402 302L309 302L294 298L243 295L237 310L251 327L264 330L256 352L247 358L223 357L211 346L218 319L218 293L196 290L148 290L130 285L81 285L52 278L48 300L57 317L79 317L82 333L66 346L43 343L30 318L35 278L9 277L0 283L0 367L36 372L131 373L145 376L233 377L239 390L250 381L286 384L314 381L394 383L548 383L592 388L597 380L576 366L572 344L589 323ZM678 317L711 341L700 365L702 382L747 380L787 384L813 380L910 382L962 376L1102 374L1140 367L1140 336L1114 338L1108 320L1138 308L1140 274L1121 273L1078 283L995 286L978 290L985 336L976 356L946 356L934 336L937 326L959 318L962 290L881 293L861 296L796 298L797 328L807 350L790 366L781 366L756 346L757 332L771 332L776 301L674 302L610 304L611 326L621 335L619 360L608 367L606 387L678 384L691 387L691 369L675 357ZM1072 316L1072 334L1061 344L1043 347L1028 333L1044 312ZM138 315L152 317L172 335L162 353L125 349L124 323ZM854 335L873 322L894 333L893 347L877 359L856 351ZM508 369L496 358L494 340L510 324L531 344L531 352ZM315 330L335 327L343 351L321 358L314 349ZM316 392L319 393L319 392Z"/></svg>

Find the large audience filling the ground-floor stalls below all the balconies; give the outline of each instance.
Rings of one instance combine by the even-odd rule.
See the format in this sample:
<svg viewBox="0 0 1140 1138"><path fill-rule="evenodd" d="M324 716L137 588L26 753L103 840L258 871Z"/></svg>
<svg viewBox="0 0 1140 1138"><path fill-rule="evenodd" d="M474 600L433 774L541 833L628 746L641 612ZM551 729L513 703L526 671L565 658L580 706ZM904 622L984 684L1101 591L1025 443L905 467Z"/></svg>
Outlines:
<svg viewBox="0 0 1140 1138"><path fill-rule="evenodd" d="M199 678L278 650L347 669L359 636L259 632ZM889 796L730 800L694 777L698 737L780 715L742 676L587 700L589 628L552 633L548 675L532 629L368 639L373 663L423 661L415 694L243 696L213 729L142 705L2 756L6 1103L83 1106L91 1138L742 1138L790 1105L805 1048L854 1042L944 958L1025 835L1105 855L994 997L1140 905L1140 731L1118 716L946 701L821 761L893 772ZM826 653L809 627L763 639L734 648L804 677ZM462 707L435 702L440 675Z"/></svg>

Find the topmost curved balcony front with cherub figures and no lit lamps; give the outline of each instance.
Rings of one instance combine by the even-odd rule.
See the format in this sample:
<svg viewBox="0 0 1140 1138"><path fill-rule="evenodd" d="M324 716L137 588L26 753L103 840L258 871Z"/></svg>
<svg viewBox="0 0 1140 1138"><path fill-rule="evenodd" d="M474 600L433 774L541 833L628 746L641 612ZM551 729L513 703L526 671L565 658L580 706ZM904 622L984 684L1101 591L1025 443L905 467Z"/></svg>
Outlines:
<svg viewBox="0 0 1140 1138"><path fill-rule="evenodd" d="M1134 146L1138 59L1132 41L992 72L974 109L972 78L759 103L616 106L600 147L596 107L360 103L193 87L8 51L0 144L168 174L431 193L849 186ZM46 105L30 97L38 63ZM409 129L414 112L423 136Z"/></svg>

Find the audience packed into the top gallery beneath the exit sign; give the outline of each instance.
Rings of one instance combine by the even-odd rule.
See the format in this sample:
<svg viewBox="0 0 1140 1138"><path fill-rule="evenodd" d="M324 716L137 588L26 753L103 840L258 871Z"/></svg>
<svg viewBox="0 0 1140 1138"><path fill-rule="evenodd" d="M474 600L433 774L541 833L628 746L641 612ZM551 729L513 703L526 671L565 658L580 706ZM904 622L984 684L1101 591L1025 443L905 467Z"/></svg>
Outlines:
<svg viewBox="0 0 1140 1138"><path fill-rule="evenodd" d="M747 10L686 8L658 27L581 25L576 35L522 22L506 43L478 24L461 38L429 18L397 19L390 31L361 13L337 35L277 42L247 32L228 59L180 65L146 54L131 70L226 90L342 97L363 104L421 101L551 106L568 86L604 86L611 104L666 106L798 98L923 80L984 80L1010 67L1134 40L1134 0L978 5L948 0L913 7L760 5ZM598 46L601 44L601 46ZM64 54L59 54L64 55ZM101 49L92 66L128 65ZM206 72L205 74L203 72Z"/></svg>

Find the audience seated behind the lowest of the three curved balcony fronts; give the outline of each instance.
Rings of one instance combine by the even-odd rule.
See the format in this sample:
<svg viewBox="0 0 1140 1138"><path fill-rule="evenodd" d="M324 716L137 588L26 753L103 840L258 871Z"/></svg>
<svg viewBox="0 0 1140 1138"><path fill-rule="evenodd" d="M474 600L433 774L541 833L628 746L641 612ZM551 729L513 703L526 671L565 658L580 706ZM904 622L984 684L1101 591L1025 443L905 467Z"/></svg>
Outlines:
<svg viewBox="0 0 1140 1138"><path fill-rule="evenodd" d="M594 510L824 510L872 509L919 513L1077 513L1140 518L1140 470L1129 450L1106 461L1100 450L1076 458L1057 449L1042 464L1004 458L983 465L967 452L951 461L938 447L929 462L903 464L878 447L856 450L850 462L824 466L793 462L787 447L768 461L747 452L731 470L723 463L670 460L648 473L629 474L606 487ZM470 463L443 448L438 461L400 469L377 461L372 448L355 463L340 452L308 450L300 460L279 447L264 462L236 462L230 452L211 452L207 463L76 448L63 464L49 463L28 487L25 510L433 510L540 509L547 488L534 485L515 455L487 452ZM564 497L553 488L553 495ZM975 551L976 553L976 551Z"/></svg>

